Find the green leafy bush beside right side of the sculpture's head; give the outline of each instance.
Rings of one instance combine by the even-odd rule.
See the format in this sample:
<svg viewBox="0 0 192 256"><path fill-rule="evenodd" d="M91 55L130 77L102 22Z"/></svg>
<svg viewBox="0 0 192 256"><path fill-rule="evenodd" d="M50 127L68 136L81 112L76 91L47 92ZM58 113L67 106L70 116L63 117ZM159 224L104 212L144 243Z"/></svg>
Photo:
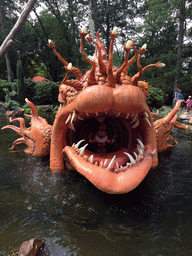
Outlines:
<svg viewBox="0 0 192 256"><path fill-rule="evenodd" d="M150 108L160 108L164 105L164 95L163 91L159 88L149 87L149 97L147 98L147 104Z"/></svg>

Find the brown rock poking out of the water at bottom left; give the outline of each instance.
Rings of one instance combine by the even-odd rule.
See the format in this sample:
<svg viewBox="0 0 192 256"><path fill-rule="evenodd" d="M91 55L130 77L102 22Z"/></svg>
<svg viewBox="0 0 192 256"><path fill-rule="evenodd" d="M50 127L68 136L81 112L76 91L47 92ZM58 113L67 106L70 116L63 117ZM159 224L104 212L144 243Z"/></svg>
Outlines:
<svg viewBox="0 0 192 256"><path fill-rule="evenodd" d="M43 250L44 240L33 238L22 243L18 256L37 256Z"/></svg>

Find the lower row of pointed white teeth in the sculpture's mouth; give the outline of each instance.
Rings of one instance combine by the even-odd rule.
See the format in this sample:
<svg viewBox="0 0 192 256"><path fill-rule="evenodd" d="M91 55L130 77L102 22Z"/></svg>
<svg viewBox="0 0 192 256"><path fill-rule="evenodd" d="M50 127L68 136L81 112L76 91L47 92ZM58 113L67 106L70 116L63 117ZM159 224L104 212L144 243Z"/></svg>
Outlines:
<svg viewBox="0 0 192 256"><path fill-rule="evenodd" d="M116 155L113 156L113 158L111 159L111 161L109 162L109 159L105 159L105 161L101 161L101 162L94 162L94 155L91 155L90 157L88 157L87 155L85 155L85 149L88 146L88 144L84 145L83 147L79 148L80 144L85 141L85 140L80 140L77 144L73 144L72 148L74 148L76 150L76 152L81 155L86 161L88 161L91 164L100 166L102 168L106 168L106 169L110 169L110 170L114 170L114 171L123 171L126 170L128 167L132 167L134 165L136 165L137 162L141 161L143 159L143 152L145 149L145 146L143 145L143 143L137 139L138 141L138 145L137 145L137 150L139 152L139 154L136 154L135 152L133 152L133 154L135 155L135 159L127 152L124 152L125 155L127 155L129 157L130 162L127 162L125 166L119 166L118 162L115 162L115 158ZM108 164L109 162L109 164ZM115 168L113 167L115 163Z"/></svg>

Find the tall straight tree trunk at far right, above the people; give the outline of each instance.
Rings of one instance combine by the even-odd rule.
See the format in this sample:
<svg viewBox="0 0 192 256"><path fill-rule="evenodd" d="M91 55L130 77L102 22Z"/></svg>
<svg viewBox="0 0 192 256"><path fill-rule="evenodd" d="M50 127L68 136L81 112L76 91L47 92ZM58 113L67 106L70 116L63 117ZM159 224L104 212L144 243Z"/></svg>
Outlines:
<svg viewBox="0 0 192 256"><path fill-rule="evenodd" d="M180 3L179 9L179 39L178 39L178 49L177 49L177 62L176 62L176 74L174 82L174 92L176 88L180 85L180 73L181 73L181 56L183 49L183 37L185 32L185 1Z"/></svg>

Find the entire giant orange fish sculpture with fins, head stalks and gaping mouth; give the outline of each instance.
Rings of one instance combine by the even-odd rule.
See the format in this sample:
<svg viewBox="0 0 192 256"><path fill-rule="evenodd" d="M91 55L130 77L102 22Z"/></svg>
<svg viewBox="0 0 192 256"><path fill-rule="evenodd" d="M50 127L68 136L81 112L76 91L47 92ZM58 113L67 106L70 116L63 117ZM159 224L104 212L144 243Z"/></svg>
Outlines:
<svg viewBox="0 0 192 256"><path fill-rule="evenodd" d="M23 118L20 128L7 125L22 138L13 143L25 143L25 150L35 156L50 155L52 172L75 169L98 189L109 194L124 194L136 188L146 177L151 167L158 165L158 152L173 147L175 139L170 135L173 127L187 129L179 124L177 111L182 101L164 118L153 122L146 99L149 85L139 81L142 74L150 67L161 68L163 63L150 64L142 68L140 59L147 51L146 45L139 48L134 41L124 45L125 60L120 68L113 62L113 44L118 36L116 29L111 31L109 57L100 41L99 32L95 44L95 60L89 59L84 51L83 42L92 42L91 35L80 31L80 50L91 69L84 75L64 60L55 49L55 43L48 41L48 46L62 61L66 76L60 88L58 101L60 107L53 126L38 116L37 109L26 99L32 110L31 127L26 128ZM135 55L129 60L129 51ZM139 72L128 76L129 66L137 60ZM74 73L76 79L69 79ZM173 142L173 143L171 143Z"/></svg>

